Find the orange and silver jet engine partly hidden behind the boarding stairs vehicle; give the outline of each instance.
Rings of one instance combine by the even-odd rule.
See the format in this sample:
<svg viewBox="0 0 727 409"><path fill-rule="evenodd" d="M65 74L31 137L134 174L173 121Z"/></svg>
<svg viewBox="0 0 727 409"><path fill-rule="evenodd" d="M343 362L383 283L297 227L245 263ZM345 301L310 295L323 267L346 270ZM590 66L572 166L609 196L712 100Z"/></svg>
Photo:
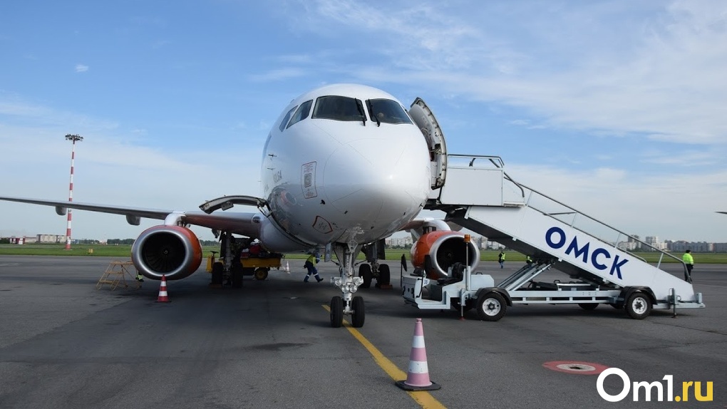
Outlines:
<svg viewBox="0 0 727 409"><path fill-rule="evenodd" d="M427 263L427 256L431 262ZM469 265L471 270L480 262L480 250L465 235L450 230L428 232L411 247L411 264L425 271L427 278L438 280L449 277L449 267L455 263Z"/></svg>

